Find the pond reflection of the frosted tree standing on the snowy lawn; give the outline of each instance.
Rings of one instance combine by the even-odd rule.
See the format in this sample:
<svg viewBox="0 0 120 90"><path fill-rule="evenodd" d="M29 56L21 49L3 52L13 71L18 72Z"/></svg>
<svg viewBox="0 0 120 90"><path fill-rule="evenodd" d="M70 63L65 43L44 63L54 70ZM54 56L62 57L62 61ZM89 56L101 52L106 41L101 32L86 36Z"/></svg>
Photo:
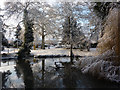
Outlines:
<svg viewBox="0 0 120 90"><path fill-rule="evenodd" d="M41 66L41 68L40 68ZM59 76L55 68L47 66L45 59L40 60L40 63L34 67L34 78L36 88L55 88L59 87Z"/></svg>

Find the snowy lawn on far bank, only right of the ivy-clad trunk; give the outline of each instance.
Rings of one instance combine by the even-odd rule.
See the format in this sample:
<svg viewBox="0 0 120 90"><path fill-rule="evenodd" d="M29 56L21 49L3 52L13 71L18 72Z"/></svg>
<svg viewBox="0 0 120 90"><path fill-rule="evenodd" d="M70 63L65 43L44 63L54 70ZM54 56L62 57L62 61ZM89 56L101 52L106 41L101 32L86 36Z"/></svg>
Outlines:
<svg viewBox="0 0 120 90"><path fill-rule="evenodd" d="M73 49L74 55L79 56L95 56L97 52L95 50L88 51L80 51L79 49ZM70 55L69 49L64 48L52 48L52 49L39 49L39 50L31 50L31 54L34 54L35 56L39 55Z"/></svg>

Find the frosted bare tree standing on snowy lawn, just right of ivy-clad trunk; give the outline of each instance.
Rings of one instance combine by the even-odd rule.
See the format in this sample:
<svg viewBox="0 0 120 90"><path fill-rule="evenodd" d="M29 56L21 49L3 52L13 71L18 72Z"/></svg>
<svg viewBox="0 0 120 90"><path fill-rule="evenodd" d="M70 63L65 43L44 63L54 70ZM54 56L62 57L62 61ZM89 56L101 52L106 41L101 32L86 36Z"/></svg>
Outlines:
<svg viewBox="0 0 120 90"><path fill-rule="evenodd" d="M32 17L34 18L34 33L39 33L42 36L42 49L45 49L45 37L56 37L58 24L56 23L57 15L53 7L45 2L37 2L37 8L31 9Z"/></svg>

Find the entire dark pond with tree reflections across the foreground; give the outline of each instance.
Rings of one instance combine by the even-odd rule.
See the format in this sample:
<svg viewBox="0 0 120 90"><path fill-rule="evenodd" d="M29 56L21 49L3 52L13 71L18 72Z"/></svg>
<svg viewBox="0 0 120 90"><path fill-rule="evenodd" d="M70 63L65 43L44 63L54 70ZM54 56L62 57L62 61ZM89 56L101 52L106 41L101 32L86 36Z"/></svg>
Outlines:
<svg viewBox="0 0 120 90"><path fill-rule="evenodd" d="M119 88L116 83L82 74L70 58L4 61L0 71L4 72L3 88Z"/></svg>

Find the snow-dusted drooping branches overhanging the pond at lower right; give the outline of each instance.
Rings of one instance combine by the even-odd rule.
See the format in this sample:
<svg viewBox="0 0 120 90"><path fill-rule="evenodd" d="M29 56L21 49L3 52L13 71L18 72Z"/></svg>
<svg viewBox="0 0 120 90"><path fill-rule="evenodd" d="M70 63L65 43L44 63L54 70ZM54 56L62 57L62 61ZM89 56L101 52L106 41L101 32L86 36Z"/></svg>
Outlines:
<svg viewBox="0 0 120 90"><path fill-rule="evenodd" d="M114 65L111 58L114 60L114 51L107 51L102 55L81 58L76 62L76 67L82 73L120 83L120 66Z"/></svg>

